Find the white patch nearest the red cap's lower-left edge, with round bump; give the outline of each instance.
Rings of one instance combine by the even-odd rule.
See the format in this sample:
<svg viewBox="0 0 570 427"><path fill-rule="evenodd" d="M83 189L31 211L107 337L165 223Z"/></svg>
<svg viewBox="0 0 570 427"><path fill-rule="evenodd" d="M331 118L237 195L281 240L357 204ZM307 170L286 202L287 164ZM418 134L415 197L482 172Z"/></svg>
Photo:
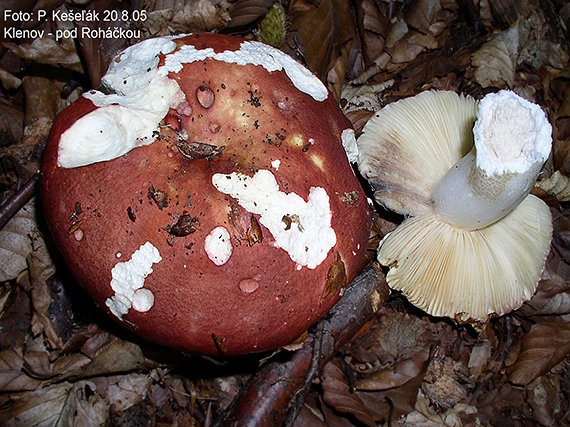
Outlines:
<svg viewBox="0 0 570 427"><path fill-rule="evenodd" d="M152 273L152 265L162 261L160 252L152 243L146 242L137 249L131 259L117 263L111 270L111 288L115 295L105 304L119 319L131 308L148 311L154 304L154 295L143 289L146 277Z"/></svg>

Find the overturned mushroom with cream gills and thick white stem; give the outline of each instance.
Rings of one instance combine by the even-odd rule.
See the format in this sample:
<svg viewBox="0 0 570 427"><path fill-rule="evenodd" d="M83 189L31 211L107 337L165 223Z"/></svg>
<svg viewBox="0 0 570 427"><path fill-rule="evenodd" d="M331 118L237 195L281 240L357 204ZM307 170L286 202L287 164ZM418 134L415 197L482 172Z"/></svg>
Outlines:
<svg viewBox="0 0 570 427"><path fill-rule="evenodd" d="M552 233L529 194L552 143L538 105L511 91L423 92L380 110L357 143L375 198L406 217L378 250L393 289L474 324L532 297Z"/></svg>

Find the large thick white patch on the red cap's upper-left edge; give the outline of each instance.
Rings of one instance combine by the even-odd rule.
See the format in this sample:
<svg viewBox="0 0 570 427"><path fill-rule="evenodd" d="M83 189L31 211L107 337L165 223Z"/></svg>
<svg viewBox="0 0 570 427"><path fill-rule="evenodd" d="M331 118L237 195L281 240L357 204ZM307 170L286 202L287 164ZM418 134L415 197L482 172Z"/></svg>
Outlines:
<svg viewBox="0 0 570 427"><path fill-rule="evenodd" d="M184 100L176 81L158 74L159 54L172 52L170 38L148 39L119 54L101 84L109 94L84 96L97 110L77 120L60 138L58 165L74 168L112 160L154 142L154 132L173 104Z"/></svg>

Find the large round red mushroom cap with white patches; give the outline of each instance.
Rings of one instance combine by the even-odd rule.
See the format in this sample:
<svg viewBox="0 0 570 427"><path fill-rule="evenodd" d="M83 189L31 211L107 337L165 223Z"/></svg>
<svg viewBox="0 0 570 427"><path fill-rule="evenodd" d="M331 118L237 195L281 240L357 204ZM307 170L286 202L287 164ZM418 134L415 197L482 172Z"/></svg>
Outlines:
<svg viewBox="0 0 570 427"><path fill-rule="evenodd" d="M142 41L102 81L57 117L42 165L78 282L125 327L187 352L301 336L361 267L371 216L325 86L218 34Z"/></svg>

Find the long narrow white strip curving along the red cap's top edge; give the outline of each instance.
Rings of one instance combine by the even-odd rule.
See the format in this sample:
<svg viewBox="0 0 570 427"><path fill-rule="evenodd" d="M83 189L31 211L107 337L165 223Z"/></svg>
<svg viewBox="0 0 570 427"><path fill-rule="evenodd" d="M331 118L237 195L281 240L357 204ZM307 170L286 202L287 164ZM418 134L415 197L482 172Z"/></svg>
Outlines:
<svg viewBox="0 0 570 427"><path fill-rule="evenodd" d="M261 65L269 72L284 70L297 89L316 101L324 101L329 96L323 82L303 65L279 49L255 41L243 42L239 50L226 50L221 53L215 53L212 48L196 49L194 46L184 45L166 57L160 72L165 75L170 71L179 72L184 64L207 58L237 65Z"/></svg>

